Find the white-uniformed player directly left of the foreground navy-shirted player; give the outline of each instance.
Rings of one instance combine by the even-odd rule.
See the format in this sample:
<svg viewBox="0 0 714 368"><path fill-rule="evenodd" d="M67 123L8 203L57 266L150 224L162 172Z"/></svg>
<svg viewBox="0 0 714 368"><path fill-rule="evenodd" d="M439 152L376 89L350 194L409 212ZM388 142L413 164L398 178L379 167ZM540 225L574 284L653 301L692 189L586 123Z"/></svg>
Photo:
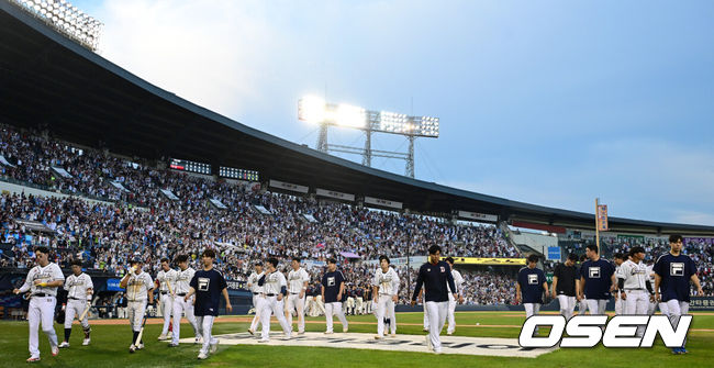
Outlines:
<svg viewBox="0 0 714 368"><path fill-rule="evenodd" d="M181 313L186 313L186 319L191 324L191 327L193 327L194 343L198 344L201 341L199 326L193 314L193 301L183 299L189 293L191 288L190 282L193 279L193 275L196 275L196 270L189 267L189 257L187 255L176 257L176 263L179 269L176 272L174 301L171 303L174 309L171 311L174 314L174 335L171 336L171 344L169 344L171 347L178 346L178 339L181 336Z"/></svg>

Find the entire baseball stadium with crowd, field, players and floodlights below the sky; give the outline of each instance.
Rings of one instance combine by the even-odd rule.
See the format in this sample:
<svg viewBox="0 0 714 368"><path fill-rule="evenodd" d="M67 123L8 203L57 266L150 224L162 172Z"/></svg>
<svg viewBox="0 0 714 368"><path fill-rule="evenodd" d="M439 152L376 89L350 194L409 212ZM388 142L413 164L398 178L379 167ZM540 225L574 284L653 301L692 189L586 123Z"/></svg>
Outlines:
<svg viewBox="0 0 714 368"><path fill-rule="evenodd" d="M64 0L0 0L4 367L712 366L714 226L416 179L433 116L304 97L313 149L103 58L101 25ZM355 122L364 148L328 143ZM409 152L370 147L381 133ZM663 328L640 347L644 326L621 330L631 348L561 346L588 336L571 324L521 338L527 316L603 314L662 315L685 346Z"/></svg>

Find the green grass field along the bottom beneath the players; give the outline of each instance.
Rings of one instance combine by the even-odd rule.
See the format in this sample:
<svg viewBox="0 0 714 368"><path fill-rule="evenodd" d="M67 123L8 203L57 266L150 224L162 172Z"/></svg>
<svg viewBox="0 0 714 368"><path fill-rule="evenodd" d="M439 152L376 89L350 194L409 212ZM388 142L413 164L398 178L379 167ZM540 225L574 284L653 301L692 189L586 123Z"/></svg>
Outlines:
<svg viewBox="0 0 714 368"><path fill-rule="evenodd" d="M417 334L422 332L421 313L400 313L397 316L399 334ZM459 326L456 335L482 337L517 338L518 327L479 327L481 325L521 325L525 317L522 313L507 312L464 312L457 313ZM306 324L308 331L324 331L324 319L308 319L320 324ZM350 316L353 322L375 322L372 315ZM415 324L404 325L404 324ZM467 326L468 325L468 326ZM213 326L214 334L244 332L246 323L222 323L219 319ZM4 332L0 335L0 361L3 367L27 366L27 323L0 322ZM277 324L272 325L279 330ZM696 315L692 328L714 330L714 315ZM55 325L62 339L63 328ZM190 337L192 331L188 325L181 328L181 337ZM352 324L350 332L373 333L375 325ZM336 322L335 331L341 331ZM182 344L169 348L168 344L157 342L160 325L147 325L145 331L146 348L136 354L129 354L131 331L127 325L98 325L92 327L91 346L81 346L81 331L75 326L70 339L71 347L63 349L58 357L49 354L47 338L40 333L42 361L41 367L710 367L714 361L714 332L690 332L688 349L684 356L673 356L670 350L657 343L654 348L624 349L604 348L562 348L538 358L499 358L465 355L432 355L427 353L402 353L361 349L338 349L327 347L281 347L281 346L221 346L208 360L199 361L196 356L197 345ZM336 334L337 336L338 334Z"/></svg>

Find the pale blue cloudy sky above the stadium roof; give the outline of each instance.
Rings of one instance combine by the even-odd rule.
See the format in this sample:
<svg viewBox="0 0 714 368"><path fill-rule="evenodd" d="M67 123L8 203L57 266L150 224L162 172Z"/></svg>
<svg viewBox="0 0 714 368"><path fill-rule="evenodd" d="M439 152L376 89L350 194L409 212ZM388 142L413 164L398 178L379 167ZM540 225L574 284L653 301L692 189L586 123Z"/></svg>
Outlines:
<svg viewBox="0 0 714 368"><path fill-rule="evenodd" d="M714 225L712 1L72 2L104 23L103 57L279 137L315 146L297 119L308 93L438 116L440 136L416 141L419 179Z"/></svg>

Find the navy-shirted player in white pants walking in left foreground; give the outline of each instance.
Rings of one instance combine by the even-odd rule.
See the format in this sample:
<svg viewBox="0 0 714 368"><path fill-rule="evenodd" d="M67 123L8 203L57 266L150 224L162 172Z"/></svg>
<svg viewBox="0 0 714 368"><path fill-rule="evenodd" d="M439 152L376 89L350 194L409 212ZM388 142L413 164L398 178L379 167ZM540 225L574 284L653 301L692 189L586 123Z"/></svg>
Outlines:
<svg viewBox="0 0 714 368"><path fill-rule="evenodd" d="M199 359L208 358L209 349L211 353L215 353L219 347L219 341L211 336L211 328L213 328L213 319L219 315L221 294L225 298L225 310L233 311L231 300L228 300L227 285L223 275L213 269L213 260L215 260L215 252L212 249L203 250L201 256L203 269L196 271L189 283L191 286L189 292L183 297L183 300L188 302L191 295L196 293L193 314L196 315L199 332L203 335L203 346L199 352Z"/></svg>

